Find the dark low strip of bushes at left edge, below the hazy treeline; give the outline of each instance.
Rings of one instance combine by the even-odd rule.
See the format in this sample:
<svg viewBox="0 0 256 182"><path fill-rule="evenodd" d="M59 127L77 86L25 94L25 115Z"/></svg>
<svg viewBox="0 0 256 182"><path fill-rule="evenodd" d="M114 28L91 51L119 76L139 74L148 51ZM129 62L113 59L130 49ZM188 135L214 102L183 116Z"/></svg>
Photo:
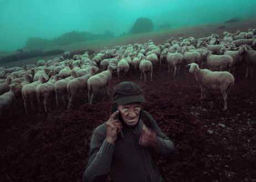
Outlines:
<svg viewBox="0 0 256 182"><path fill-rule="evenodd" d="M0 58L1 63L13 62L24 60L27 58L38 57L38 56L52 56L64 53L64 50L51 50L51 51L43 51L43 50L31 50L31 51L23 51L19 49L17 53L12 55Z"/></svg>

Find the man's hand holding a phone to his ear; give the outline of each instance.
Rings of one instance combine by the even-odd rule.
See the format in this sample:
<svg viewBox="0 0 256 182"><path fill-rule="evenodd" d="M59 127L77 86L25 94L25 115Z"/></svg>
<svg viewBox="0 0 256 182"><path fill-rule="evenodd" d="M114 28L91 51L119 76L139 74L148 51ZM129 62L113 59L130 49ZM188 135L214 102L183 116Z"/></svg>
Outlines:
<svg viewBox="0 0 256 182"><path fill-rule="evenodd" d="M117 138L117 133L122 129L121 122L116 119L119 111L115 111L110 115L109 120L106 122L106 141L109 143L115 143Z"/></svg>

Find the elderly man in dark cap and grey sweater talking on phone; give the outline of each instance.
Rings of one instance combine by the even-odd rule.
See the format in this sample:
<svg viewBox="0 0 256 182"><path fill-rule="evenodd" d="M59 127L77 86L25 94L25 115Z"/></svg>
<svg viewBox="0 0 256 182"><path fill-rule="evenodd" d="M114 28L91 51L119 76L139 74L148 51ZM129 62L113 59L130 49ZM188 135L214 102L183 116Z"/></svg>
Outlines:
<svg viewBox="0 0 256 182"><path fill-rule="evenodd" d="M170 156L174 146L150 114L142 111L141 88L133 82L119 83L113 101L117 110L91 137L83 181L106 181L109 173L114 181L163 181L155 155Z"/></svg>

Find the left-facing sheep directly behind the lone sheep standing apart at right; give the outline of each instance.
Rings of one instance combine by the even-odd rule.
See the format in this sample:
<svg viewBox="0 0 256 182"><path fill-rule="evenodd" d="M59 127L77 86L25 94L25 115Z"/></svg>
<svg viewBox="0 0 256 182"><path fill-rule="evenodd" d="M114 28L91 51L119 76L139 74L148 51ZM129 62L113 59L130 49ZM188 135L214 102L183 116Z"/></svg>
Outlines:
<svg viewBox="0 0 256 182"><path fill-rule="evenodd" d="M212 71L214 68L219 68L222 71L225 68L229 68L229 71L232 66L233 58L229 55L212 55L211 51L206 51L204 53L206 56L207 65Z"/></svg>

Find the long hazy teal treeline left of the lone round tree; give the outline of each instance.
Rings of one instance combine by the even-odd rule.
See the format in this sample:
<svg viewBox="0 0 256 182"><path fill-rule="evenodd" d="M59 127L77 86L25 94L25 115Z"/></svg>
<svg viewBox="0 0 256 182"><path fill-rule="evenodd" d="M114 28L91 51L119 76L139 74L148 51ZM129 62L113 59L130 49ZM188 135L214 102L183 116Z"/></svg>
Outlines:
<svg viewBox="0 0 256 182"><path fill-rule="evenodd" d="M70 31L63 35L60 35L58 38L53 40L49 39L42 39L42 38L33 38L30 37L26 41L25 46L23 47L24 50L34 50L34 49L43 49L44 47L48 46L62 46L72 44L74 42L84 42L88 40L95 40L95 39L105 39L111 38L114 36L114 33L107 30L103 34L93 34L90 32L85 31Z"/></svg>

